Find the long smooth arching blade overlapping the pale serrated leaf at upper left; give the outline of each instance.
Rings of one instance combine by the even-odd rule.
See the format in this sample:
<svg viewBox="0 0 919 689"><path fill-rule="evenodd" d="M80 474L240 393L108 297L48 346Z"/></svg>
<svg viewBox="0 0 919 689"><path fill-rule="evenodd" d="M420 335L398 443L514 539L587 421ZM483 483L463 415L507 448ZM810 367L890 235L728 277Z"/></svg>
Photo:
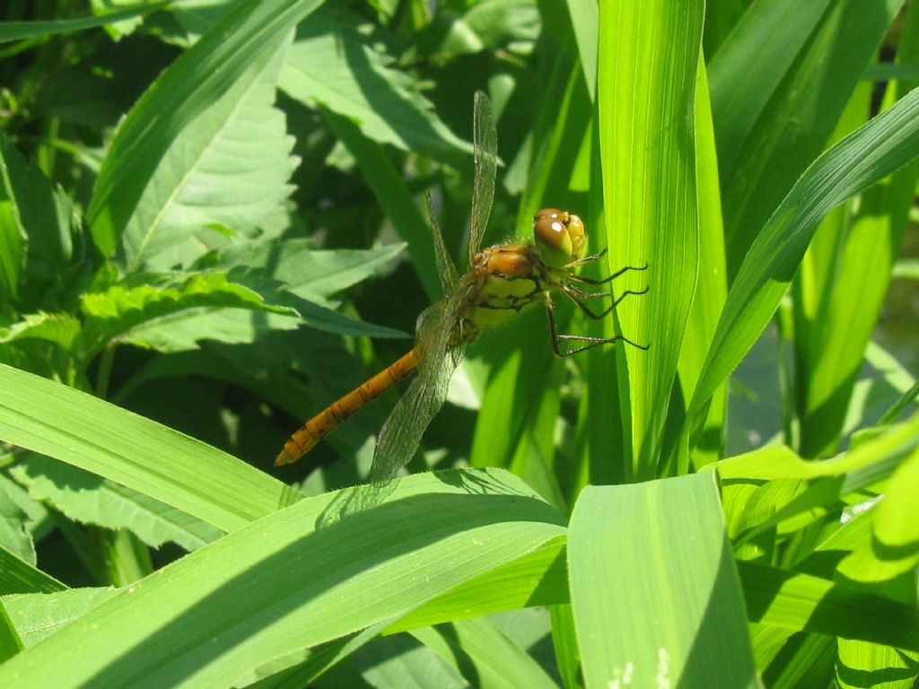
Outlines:
<svg viewBox="0 0 919 689"><path fill-rule="evenodd" d="M112 254L121 244L144 193L182 133L195 120L206 118L209 108L227 91L243 88L244 76L255 80L259 71L253 66L269 62L289 29L318 4L244 0L176 60L131 108L112 142L87 210L93 238L103 254ZM282 132L273 141L283 141ZM176 180L173 182L175 189ZM150 228L142 223L142 230ZM135 245L132 255L142 256L137 253L142 248Z"/></svg>

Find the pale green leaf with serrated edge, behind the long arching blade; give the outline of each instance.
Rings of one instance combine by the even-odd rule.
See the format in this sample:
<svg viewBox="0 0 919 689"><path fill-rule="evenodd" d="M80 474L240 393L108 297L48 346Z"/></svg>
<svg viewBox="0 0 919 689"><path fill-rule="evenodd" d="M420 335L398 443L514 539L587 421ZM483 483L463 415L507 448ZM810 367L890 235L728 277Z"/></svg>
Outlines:
<svg viewBox="0 0 919 689"><path fill-rule="evenodd" d="M170 267L176 246L211 223L241 230L281 208L298 164L284 115L273 107L287 45L254 62L172 141L121 237L129 272Z"/></svg>

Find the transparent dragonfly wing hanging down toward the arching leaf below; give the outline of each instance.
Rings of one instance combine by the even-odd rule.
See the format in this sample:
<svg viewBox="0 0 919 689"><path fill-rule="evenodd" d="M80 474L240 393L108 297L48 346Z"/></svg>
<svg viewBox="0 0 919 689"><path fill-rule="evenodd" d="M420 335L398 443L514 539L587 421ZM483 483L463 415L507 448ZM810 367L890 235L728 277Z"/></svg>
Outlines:
<svg viewBox="0 0 919 689"><path fill-rule="evenodd" d="M370 480L376 484L390 480L408 463L421 445L425 428L444 406L450 377L462 357L460 347L448 350L456 301L440 301L418 317L418 375L380 429L370 467Z"/></svg>

